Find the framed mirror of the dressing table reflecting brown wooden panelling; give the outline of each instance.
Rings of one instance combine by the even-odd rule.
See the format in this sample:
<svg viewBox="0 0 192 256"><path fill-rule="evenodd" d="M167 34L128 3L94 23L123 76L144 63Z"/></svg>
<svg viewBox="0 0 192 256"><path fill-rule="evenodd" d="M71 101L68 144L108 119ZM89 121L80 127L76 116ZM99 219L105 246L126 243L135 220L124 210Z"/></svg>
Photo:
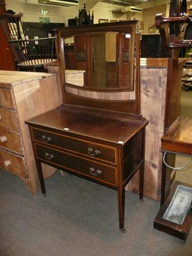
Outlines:
<svg viewBox="0 0 192 256"><path fill-rule="evenodd" d="M94 91L134 90L135 35L136 20L59 31L65 86Z"/></svg>

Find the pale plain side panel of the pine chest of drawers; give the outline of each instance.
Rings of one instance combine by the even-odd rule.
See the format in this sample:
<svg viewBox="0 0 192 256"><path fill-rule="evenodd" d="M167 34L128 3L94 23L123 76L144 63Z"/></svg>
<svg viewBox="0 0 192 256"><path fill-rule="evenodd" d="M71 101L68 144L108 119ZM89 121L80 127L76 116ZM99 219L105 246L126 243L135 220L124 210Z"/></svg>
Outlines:
<svg viewBox="0 0 192 256"><path fill-rule="evenodd" d="M20 79L22 80L22 74L24 76L28 75L29 77L30 73L19 72ZM31 139L28 126L24 123L24 120L56 108L60 104L56 76L51 75L46 77L46 74L44 74L44 77L41 78L41 73L39 75L36 73L36 76L36 79L29 79L25 83L22 82L13 87L20 122L20 133L25 150L25 159L28 164L29 179L31 180L30 186L34 194L37 189L38 177L37 173L34 172L36 166L33 158ZM40 79L38 79L38 76ZM26 111L26 108L28 111ZM49 177L55 171L55 168L44 166L44 177Z"/></svg>

